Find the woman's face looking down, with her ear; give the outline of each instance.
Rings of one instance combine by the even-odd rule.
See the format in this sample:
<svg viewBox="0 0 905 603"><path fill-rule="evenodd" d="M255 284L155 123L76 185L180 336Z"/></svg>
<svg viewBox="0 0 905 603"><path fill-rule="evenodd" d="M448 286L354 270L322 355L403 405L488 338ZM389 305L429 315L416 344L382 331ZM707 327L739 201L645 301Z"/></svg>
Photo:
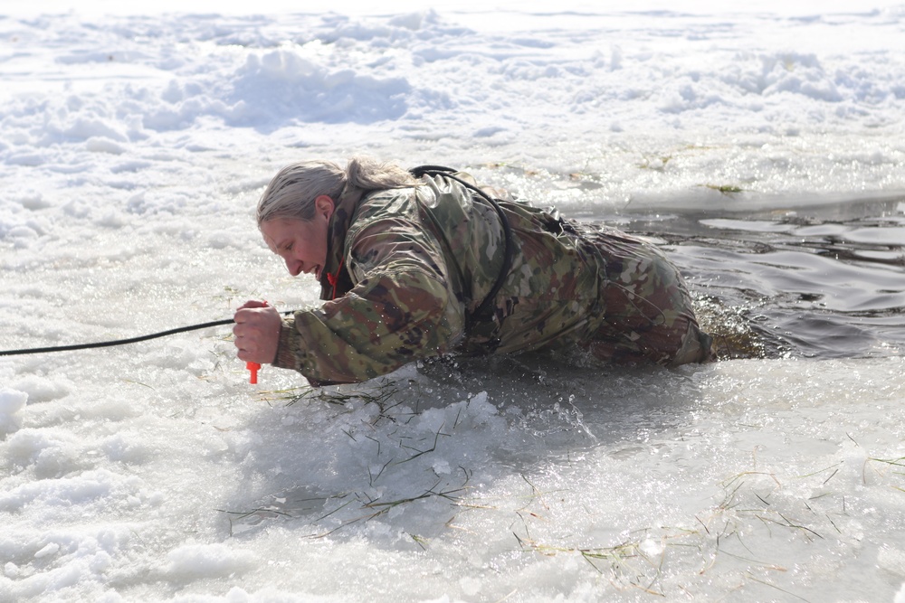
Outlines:
<svg viewBox="0 0 905 603"><path fill-rule="evenodd" d="M320 195L315 201L314 218L298 220L278 218L262 222L264 242L286 262L293 277L313 274L320 280L327 263L327 231L333 215L333 201Z"/></svg>

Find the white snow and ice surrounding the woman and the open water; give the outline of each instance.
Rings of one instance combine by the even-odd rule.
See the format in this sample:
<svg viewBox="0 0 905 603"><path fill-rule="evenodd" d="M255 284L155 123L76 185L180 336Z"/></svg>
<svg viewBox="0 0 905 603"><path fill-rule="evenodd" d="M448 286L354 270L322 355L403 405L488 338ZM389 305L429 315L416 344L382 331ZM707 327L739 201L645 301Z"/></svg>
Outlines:
<svg viewBox="0 0 905 603"><path fill-rule="evenodd" d="M4 350L316 304L253 224L303 157L738 231L905 194L885 0L7 0L0 78ZM321 391L227 335L0 358L0 601L905 600L900 353Z"/></svg>

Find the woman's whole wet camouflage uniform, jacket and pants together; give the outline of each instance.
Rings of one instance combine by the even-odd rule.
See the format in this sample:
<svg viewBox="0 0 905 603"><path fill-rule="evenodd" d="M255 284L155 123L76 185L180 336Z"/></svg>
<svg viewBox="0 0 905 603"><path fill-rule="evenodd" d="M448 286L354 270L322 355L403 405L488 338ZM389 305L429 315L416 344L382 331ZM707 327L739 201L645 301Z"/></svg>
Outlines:
<svg viewBox="0 0 905 603"><path fill-rule="evenodd" d="M710 358L710 337L662 252L525 203L498 201L514 253L491 316L476 319L505 261L500 217L446 176L423 183L338 200L321 277L328 301L284 319L276 366L325 384L444 353L580 345L607 362Z"/></svg>

